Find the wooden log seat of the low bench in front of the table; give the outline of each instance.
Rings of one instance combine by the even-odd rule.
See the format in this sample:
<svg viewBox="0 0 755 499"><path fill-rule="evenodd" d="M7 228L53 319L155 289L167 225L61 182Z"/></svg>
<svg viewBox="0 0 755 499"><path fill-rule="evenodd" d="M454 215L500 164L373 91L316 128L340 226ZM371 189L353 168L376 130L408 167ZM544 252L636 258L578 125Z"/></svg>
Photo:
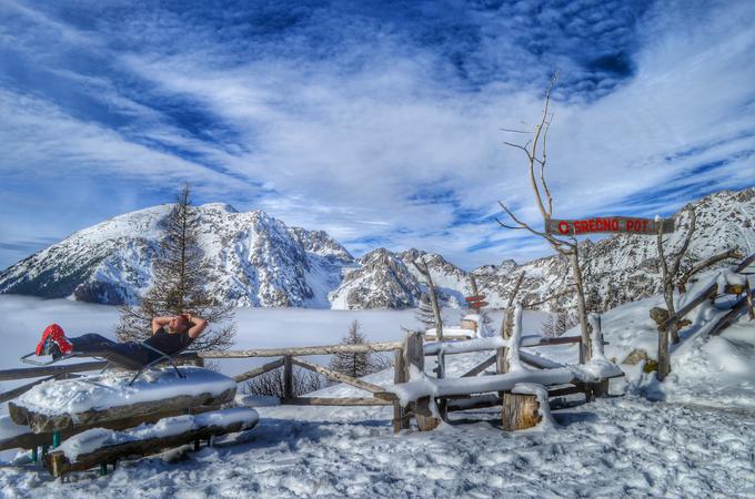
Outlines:
<svg viewBox="0 0 755 499"><path fill-rule="evenodd" d="M114 464L127 456L149 456L195 440L209 439L217 435L240 431L242 428L244 428L244 422L238 421L228 426L208 426L198 428L169 437L127 441L102 447L93 452L79 455L74 462L70 462L62 451L52 451L48 452L46 456L44 465L53 477L61 477L71 471L81 471L97 467L100 464Z"/></svg>

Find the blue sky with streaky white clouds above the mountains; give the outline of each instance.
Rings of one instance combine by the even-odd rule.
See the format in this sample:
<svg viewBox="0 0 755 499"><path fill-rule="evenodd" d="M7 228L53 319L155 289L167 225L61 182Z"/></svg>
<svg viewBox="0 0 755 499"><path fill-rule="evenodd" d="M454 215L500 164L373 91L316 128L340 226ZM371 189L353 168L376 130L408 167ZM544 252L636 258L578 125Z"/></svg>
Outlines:
<svg viewBox="0 0 755 499"><path fill-rule="evenodd" d="M521 152L560 72L554 215L755 184L752 1L0 3L0 268L123 212L262 208L360 255L548 254Z"/></svg>

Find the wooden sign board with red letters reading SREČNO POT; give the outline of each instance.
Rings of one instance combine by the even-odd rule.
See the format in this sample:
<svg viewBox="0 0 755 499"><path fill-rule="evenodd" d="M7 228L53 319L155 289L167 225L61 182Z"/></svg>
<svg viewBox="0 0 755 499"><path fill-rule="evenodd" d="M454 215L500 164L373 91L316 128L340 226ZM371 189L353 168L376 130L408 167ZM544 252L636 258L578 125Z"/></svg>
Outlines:
<svg viewBox="0 0 755 499"><path fill-rule="evenodd" d="M663 233L674 232L674 218L661 218ZM596 216L584 220L545 218L545 232L556 235L585 235L602 232L623 234L657 234L656 222L653 218L634 218L631 216Z"/></svg>

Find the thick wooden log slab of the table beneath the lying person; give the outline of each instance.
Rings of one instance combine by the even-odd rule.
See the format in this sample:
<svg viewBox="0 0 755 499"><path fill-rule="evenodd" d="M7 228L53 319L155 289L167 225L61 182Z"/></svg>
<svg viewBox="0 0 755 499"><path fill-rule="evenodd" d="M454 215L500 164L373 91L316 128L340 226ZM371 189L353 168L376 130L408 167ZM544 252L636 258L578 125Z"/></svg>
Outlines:
<svg viewBox="0 0 755 499"><path fill-rule="evenodd" d="M220 395L210 393L199 394L195 396L180 395L162 400L150 400L142 403L133 403L122 406L108 407L104 409L91 409L83 413L57 414L47 415L42 413L34 413L27 407L8 404L8 411L11 419L17 425L28 426L33 432L53 432L53 431L72 431L81 427L104 426L108 422L115 424L120 420L133 420L133 418L142 417L153 413L173 413L201 406L220 406L221 404L233 400L235 395L235 387L228 389ZM128 401L128 400L127 400ZM77 431L78 432L78 431Z"/></svg>

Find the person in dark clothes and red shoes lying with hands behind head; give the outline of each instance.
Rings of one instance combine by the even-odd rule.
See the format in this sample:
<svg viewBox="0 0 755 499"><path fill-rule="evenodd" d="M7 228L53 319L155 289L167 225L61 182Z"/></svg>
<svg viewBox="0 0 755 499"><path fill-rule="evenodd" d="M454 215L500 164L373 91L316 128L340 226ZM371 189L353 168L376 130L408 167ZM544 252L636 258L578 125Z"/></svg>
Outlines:
<svg viewBox="0 0 755 499"><path fill-rule="evenodd" d="M102 357L121 365L143 366L161 354L175 355L183 352L208 327L208 322L191 314L152 319L152 336L143 343L113 342L98 334L69 338L58 324L50 324L37 345L38 356L51 355L59 359L68 355ZM159 352L155 352L159 350Z"/></svg>

